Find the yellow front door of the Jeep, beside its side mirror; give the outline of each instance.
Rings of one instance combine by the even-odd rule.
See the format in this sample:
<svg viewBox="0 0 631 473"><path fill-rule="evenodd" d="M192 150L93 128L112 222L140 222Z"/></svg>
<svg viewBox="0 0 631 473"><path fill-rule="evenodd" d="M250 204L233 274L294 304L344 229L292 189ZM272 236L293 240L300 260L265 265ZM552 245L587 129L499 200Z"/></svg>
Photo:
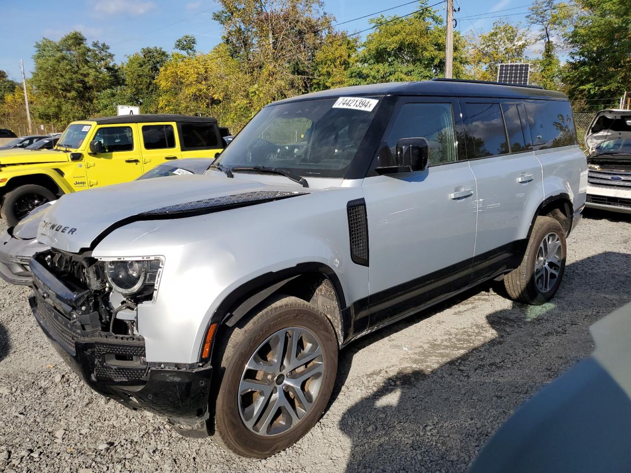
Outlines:
<svg viewBox="0 0 631 473"><path fill-rule="evenodd" d="M128 182L143 173L136 127L129 124L97 128L92 140L103 144L103 152L85 156L88 187Z"/></svg>

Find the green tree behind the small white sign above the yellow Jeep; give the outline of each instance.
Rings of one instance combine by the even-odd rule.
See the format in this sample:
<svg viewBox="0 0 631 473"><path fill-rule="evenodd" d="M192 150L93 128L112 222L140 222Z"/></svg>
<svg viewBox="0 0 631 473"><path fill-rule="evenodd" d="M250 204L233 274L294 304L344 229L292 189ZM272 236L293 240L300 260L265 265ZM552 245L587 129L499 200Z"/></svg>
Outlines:
<svg viewBox="0 0 631 473"><path fill-rule="evenodd" d="M155 79L169 54L159 47L146 47L127 56L120 66L122 83L100 93L100 114L115 115L116 105L139 105L143 114L159 111L160 88Z"/></svg>

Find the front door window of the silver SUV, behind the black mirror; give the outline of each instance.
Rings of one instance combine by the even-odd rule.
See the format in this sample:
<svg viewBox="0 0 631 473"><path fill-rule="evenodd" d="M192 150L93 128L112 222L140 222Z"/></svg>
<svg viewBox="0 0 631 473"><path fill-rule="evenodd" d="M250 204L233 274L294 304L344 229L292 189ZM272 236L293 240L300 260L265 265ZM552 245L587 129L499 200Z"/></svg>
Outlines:
<svg viewBox="0 0 631 473"><path fill-rule="evenodd" d="M401 107L387 143L391 153L401 138L425 138L428 164L456 161L456 134L451 103L406 103Z"/></svg>

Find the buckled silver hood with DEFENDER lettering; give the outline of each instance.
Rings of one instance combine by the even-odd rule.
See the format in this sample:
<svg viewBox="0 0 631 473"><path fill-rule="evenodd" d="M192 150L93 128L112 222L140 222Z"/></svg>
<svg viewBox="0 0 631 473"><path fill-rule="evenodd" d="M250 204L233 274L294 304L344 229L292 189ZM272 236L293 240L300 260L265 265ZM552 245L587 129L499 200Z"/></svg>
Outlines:
<svg viewBox="0 0 631 473"><path fill-rule="evenodd" d="M62 196L41 219L37 240L76 253L132 221L227 211L307 192L317 189L262 184L220 172L136 180Z"/></svg>

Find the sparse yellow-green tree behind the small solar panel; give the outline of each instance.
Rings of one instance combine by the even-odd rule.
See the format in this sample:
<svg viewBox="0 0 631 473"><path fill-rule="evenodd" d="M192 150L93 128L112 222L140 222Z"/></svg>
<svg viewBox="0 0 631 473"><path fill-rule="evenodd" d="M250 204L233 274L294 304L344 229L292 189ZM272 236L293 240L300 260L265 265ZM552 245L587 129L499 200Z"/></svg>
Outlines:
<svg viewBox="0 0 631 473"><path fill-rule="evenodd" d="M483 81L497 80L498 64L522 62L526 49L531 44L528 32L520 23L511 25L504 19L493 23L488 33L468 36L468 76Z"/></svg>

